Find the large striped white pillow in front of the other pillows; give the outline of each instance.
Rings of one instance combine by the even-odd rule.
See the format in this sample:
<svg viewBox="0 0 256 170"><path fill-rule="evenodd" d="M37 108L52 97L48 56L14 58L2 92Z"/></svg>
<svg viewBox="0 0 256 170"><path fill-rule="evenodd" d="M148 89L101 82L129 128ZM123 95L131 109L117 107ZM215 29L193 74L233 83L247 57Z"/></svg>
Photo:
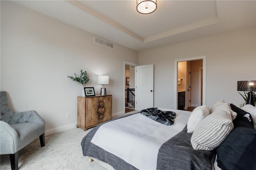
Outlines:
<svg viewBox="0 0 256 170"><path fill-rule="evenodd" d="M191 137L191 144L195 150L214 150L228 134L233 130L230 111L216 109L208 115L194 130Z"/></svg>

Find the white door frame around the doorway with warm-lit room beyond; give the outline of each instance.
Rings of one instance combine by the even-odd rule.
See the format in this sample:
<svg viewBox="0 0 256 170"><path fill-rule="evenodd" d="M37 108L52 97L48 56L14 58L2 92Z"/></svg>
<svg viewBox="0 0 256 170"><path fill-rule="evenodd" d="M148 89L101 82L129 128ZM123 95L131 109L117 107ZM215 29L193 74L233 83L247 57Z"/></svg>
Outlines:
<svg viewBox="0 0 256 170"><path fill-rule="evenodd" d="M202 105L206 105L206 55L198 56L198 57L190 57L183 59L175 59L174 60L174 106L178 109L178 62L181 61L192 61L192 60L203 60L203 94L202 94Z"/></svg>

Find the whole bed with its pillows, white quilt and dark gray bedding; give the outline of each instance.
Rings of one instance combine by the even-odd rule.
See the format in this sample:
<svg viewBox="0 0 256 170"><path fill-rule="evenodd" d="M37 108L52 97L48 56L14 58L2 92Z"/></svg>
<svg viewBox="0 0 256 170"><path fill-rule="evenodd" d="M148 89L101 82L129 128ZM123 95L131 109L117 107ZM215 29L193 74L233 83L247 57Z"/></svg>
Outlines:
<svg viewBox="0 0 256 170"><path fill-rule="evenodd" d="M193 112L158 109L175 112L174 123L166 126L140 113L112 119L82 139L83 155L116 170L256 169L256 108L252 105L240 109L220 100ZM215 138L212 149L196 148L198 132L197 140L204 139L208 145Z"/></svg>

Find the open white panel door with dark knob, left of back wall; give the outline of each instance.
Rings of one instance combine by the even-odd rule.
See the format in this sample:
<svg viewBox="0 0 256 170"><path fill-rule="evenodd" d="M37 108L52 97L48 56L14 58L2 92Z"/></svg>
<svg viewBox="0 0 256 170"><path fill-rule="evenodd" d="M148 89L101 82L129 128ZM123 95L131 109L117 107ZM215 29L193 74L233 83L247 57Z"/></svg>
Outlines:
<svg viewBox="0 0 256 170"><path fill-rule="evenodd" d="M135 67L135 110L154 107L154 65Z"/></svg>

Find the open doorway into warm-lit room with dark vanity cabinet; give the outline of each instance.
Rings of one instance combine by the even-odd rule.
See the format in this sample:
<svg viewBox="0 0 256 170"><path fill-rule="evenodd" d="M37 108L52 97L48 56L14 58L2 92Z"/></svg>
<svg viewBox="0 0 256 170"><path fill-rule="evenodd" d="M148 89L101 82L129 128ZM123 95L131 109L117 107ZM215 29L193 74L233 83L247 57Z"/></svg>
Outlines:
<svg viewBox="0 0 256 170"><path fill-rule="evenodd" d="M205 104L206 56L176 60L176 106L192 111Z"/></svg>

